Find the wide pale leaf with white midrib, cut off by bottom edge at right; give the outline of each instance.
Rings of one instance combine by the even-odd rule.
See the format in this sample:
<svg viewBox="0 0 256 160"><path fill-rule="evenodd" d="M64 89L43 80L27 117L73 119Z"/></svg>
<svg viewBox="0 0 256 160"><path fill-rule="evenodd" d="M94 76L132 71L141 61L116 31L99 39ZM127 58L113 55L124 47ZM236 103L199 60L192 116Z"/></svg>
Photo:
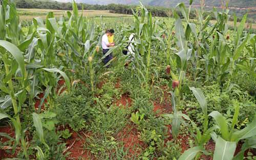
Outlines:
<svg viewBox="0 0 256 160"><path fill-rule="evenodd" d="M228 142L219 137L215 146L214 160L232 160L236 147L236 142Z"/></svg>

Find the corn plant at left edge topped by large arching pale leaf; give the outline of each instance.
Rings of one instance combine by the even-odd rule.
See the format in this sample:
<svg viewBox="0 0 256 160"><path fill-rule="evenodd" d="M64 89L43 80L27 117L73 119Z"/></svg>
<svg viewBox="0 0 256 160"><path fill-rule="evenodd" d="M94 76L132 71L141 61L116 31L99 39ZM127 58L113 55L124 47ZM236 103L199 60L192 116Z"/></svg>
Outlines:
<svg viewBox="0 0 256 160"><path fill-rule="evenodd" d="M22 52L19 51L19 49L12 43L0 40L0 46L4 49L1 50L0 55L4 61L5 64L5 82L8 83L8 87L2 84L2 88L4 91L9 95L6 97L5 101L0 105L1 108L6 108L8 105L12 104L15 119L11 118L9 115L2 114L1 119L3 118L10 118L14 127L15 127L15 135L16 135L16 143L19 144L19 141L22 143L22 146L24 148L24 153L26 158L28 158L27 154L27 146L26 142L24 140L24 135L22 134L21 130L21 122L19 118L19 112L21 110L22 104L26 100L26 69L25 69L25 63L24 63L24 57L22 55ZM11 54L14 57L15 61L10 61L8 59L9 54ZM11 70L9 68L11 66ZM14 86L12 82L12 76L15 74L15 72L19 69L20 77L16 76L15 78L20 78L20 84L22 86L22 90L15 93ZM16 100L16 97L18 97L18 102Z"/></svg>

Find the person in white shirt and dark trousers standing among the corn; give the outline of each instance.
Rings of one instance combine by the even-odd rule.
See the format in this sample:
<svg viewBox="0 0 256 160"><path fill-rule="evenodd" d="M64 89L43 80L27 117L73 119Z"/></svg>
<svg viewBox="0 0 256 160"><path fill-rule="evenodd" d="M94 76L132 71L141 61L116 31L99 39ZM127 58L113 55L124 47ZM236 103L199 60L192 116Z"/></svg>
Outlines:
<svg viewBox="0 0 256 160"><path fill-rule="evenodd" d="M115 43L109 43L109 39L108 39L108 36L112 36L114 33L115 33L115 31L113 29L106 30L106 33L102 36L101 47L103 50L102 51L103 55L105 55L110 50L110 47L115 46ZM112 58L113 58L112 54L106 56L103 59L103 63L107 64L110 60L112 60ZM107 67L109 67L109 66L107 66Z"/></svg>

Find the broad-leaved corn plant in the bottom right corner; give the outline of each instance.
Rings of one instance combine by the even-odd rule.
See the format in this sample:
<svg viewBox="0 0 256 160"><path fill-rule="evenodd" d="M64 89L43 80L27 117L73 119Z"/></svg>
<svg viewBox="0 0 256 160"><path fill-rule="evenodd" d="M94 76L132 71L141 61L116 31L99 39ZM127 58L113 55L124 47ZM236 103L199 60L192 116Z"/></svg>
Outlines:
<svg viewBox="0 0 256 160"><path fill-rule="evenodd" d="M230 126L227 125L225 117L220 114L218 111L213 111L209 114L218 126L218 130L220 131L220 135L218 136L216 132L212 132L211 138L216 142L214 159L232 159L234 151L236 150L237 143L240 140L252 139L254 140L256 136L256 118L247 125L242 130L234 129L238 121L239 115L239 105L236 105L236 109L234 111L232 123ZM251 144L245 144L245 147L248 148L253 146ZM244 152L244 151L242 151ZM234 157L235 159L239 159L242 155Z"/></svg>

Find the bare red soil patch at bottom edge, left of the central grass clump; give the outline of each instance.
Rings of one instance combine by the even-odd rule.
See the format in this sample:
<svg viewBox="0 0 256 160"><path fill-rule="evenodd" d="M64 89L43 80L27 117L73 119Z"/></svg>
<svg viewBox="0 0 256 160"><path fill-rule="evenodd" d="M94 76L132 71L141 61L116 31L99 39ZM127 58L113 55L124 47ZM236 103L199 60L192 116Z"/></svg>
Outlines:
<svg viewBox="0 0 256 160"><path fill-rule="evenodd" d="M83 158L83 159L94 159L92 156L90 150L84 149L84 144L86 143L86 139L91 135L90 133L88 134L83 134L83 132L79 132L79 135L81 138L78 136L76 132L72 134L72 137L67 140L67 152L70 152L69 158L71 159L78 159ZM70 148L69 148L70 147Z"/></svg>

